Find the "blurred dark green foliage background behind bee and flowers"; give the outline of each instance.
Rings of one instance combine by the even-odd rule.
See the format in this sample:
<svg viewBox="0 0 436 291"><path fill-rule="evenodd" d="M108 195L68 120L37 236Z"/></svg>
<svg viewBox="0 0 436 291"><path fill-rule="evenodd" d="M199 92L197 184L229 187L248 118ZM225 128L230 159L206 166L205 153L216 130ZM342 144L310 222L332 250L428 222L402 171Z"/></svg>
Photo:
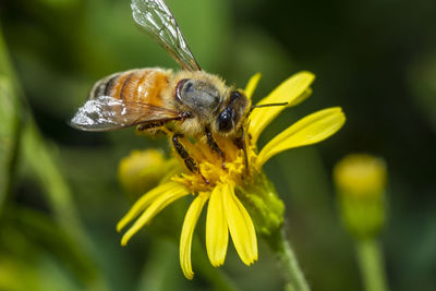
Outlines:
<svg viewBox="0 0 436 291"><path fill-rule="evenodd" d="M368 153L389 171L382 243L390 288L434 290L436 2L167 2L203 69L239 87L263 74L255 99L298 71L317 75L312 97L283 112L261 144L307 113L343 108L348 120L338 134L266 165L313 289L362 290L331 171L344 155ZM252 267L231 247L223 271L208 267L204 244L194 245L196 277L185 280L177 240L189 199L120 246L114 226L131 201L118 183L118 163L133 149L169 154L167 141L132 129L80 132L66 121L105 75L177 69L135 27L130 1L2 0L0 25L1 290L213 290L220 276L241 290L282 289L263 242Z"/></svg>

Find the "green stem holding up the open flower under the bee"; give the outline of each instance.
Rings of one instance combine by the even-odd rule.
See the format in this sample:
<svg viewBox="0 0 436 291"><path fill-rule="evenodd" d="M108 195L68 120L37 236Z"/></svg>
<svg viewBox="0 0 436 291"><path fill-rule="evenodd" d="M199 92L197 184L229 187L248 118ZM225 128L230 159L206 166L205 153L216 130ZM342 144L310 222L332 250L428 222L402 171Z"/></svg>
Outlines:
<svg viewBox="0 0 436 291"><path fill-rule="evenodd" d="M291 244L286 238L284 230L279 229L267 240L280 264L281 271L287 281L287 291L310 291L310 287L300 269Z"/></svg>

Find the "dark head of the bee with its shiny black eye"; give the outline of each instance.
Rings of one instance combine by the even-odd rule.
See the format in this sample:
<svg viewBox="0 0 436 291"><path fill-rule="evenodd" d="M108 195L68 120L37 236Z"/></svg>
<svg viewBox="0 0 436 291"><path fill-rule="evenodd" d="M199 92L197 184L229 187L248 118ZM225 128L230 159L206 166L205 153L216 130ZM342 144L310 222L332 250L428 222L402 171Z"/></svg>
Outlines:
<svg viewBox="0 0 436 291"><path fill-rule="evenodd" d="M218 114L216 126L219 132L228 133L237 129L247 111L249 99L239 90L231 90L229 104Z"/></svg>

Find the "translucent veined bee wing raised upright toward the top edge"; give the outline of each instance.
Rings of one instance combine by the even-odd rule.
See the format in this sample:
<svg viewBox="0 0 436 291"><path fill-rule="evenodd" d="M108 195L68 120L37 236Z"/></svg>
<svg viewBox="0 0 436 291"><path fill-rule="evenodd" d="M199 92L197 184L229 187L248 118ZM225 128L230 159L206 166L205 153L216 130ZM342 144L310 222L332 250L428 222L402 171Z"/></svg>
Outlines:
<svg viewBox="0 0 436 291"><path fill-rule="evenodd" d="M199 71L182 32L164 0L132 0L133 19L185 70Z"/></svg>

